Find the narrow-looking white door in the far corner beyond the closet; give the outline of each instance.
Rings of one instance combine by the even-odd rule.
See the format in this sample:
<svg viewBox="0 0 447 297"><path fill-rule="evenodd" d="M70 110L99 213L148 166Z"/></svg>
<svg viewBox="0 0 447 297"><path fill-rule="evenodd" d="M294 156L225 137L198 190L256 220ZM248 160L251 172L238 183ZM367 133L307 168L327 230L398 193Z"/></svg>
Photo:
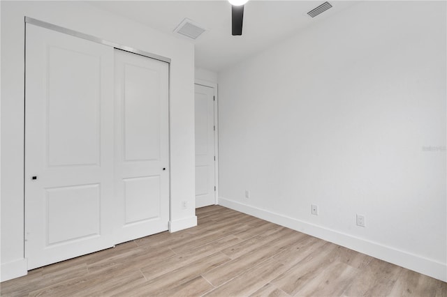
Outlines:
<svg viewBox="0 0 447 297"><path fill-rule="evenodd" d="M214 89L195 85L196 208L216 204Z"/></svg>

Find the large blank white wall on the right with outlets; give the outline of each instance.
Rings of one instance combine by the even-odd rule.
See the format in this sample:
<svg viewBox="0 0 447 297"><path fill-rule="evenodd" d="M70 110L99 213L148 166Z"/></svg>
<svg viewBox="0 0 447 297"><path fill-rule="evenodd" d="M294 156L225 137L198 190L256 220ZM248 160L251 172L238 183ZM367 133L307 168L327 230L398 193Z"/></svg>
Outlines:
<svg viewBox="0 0 447 297"><path fill-rule="evenodd" d="M219 100L219 204L447 280L445 1L352 6Z"/></svg>

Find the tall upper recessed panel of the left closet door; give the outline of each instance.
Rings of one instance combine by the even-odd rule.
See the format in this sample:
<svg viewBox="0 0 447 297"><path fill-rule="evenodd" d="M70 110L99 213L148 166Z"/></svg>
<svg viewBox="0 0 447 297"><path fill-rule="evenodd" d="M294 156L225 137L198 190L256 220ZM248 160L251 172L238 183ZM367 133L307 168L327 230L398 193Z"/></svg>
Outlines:
<svg viewBox="0 0 447 297"><path fill-rule="evenodd" d="M46 59L48 165L98 165L101 57L49 46Z"/></svg>

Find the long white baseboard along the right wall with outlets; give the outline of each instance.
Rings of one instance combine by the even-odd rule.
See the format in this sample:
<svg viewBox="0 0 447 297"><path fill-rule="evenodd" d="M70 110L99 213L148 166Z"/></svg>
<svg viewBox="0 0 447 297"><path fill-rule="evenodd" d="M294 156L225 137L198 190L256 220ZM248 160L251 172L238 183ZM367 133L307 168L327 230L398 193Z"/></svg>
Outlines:
<svg viewBox="0 0 447 297"><path fill-rule="evenodd" d="M330 241L337 245L342 245L345 248L356 250L357 252L367 254L371 257L447 282L447 265L439 261L420 257L416 254L410 254L373 241L367 241L327 227L321 227L316 224L290 218L279 213L273 213L271 211L266 211L265 209L249 206L223 197L219 197L219 205L321 238L325 241Z"/></svg>

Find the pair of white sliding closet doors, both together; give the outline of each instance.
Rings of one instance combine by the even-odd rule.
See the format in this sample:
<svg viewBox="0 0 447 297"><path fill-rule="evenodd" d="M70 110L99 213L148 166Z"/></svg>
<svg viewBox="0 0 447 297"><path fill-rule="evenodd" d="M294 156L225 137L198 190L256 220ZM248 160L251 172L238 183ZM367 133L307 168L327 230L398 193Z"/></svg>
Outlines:
<svg viewBox="0 0 447 297"><path fill-rule="evenodd" d="M168 229L169 63L74 35L26 24L28 269Z"/></svg>

